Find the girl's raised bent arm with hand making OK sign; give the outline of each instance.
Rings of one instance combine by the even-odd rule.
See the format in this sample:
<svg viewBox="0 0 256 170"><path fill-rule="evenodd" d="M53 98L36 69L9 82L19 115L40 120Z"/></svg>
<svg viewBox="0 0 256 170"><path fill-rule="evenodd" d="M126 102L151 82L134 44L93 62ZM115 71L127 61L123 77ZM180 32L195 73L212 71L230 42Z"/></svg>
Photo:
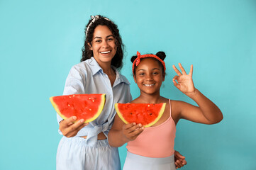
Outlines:
<svg viewBox="0 0 256 170"><path fill-rule="evenodd" d="M196 107L182 101L172 101L175 103L173 108L174 113L179 113L179 118L191 120L196 123L219 123L223 119L221 110L194 87L192 80L193 65L191 65L189 74L185 72L180 63L179 68L182 70L182 73L179 72L175 66L173 66L173 68L178 74L178 76L175 76L174 79L172 79L174 86L198 104L198 107Z"/></svg>

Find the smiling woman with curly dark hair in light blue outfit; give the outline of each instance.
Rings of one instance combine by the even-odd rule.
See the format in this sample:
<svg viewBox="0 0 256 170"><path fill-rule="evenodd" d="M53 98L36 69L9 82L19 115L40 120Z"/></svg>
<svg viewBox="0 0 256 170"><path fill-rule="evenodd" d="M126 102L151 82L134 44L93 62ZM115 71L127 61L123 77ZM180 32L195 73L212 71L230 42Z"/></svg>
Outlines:
<svg viewBox="0 0 256 170"><path fill-rule="evenodd" d="M99 118L84 124L72 117L62 120L60 134L64 135L57 149L57 170L121 169L118 148L108 145L108 131L115 115L114 103L132 100L130 83L118 70L123 65L123 43L118 27L103 16L91 16L85 29L82 60L67 76L63 95L106 94L104 110ZM177 153L177 163L184 161Z"/></svg>

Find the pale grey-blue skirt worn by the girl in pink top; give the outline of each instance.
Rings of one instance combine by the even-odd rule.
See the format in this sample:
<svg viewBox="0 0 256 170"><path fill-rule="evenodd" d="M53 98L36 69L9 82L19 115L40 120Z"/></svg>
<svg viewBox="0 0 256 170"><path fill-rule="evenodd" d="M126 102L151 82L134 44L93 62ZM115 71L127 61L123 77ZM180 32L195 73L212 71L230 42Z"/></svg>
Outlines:
<svg viewBox="0 0 256 170"><path fill-rule="evenodd" d="M152 158L132 154L127 151L126 162L123 170L176 170L174 164L174 154L170 157Z"/></svg>

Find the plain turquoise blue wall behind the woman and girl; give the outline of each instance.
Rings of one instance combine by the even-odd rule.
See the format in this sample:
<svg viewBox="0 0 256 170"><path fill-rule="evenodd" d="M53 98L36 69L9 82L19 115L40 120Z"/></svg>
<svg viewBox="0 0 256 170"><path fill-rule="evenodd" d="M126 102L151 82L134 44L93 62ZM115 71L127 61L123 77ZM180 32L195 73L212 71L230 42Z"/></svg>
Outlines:
<svg viewBox="0 0 256 170"><path fill-rule="evenodd" d="M256 169L256 1L0 0L0 169L55 169L60 135L49 97L62 94L81 58L90 15L111 18L126 45L122 73L133 82L137 50L167 54L162 94L194 103L172 84L172 64L189 71L224 119L216 125L181 120L175 149L182 169ZM156 144L157 145L157 144ZM122 164L126 148L120 149Z"/></svg>

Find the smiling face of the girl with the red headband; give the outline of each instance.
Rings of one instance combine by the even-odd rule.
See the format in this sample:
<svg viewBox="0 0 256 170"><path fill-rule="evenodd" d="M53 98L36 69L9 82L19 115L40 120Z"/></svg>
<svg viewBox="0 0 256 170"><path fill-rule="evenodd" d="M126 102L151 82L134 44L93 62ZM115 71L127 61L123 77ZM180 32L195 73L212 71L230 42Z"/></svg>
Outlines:
<svg viewBox="0 0 256 170"><path fill-rule="evenodd" d="M160 64L148 57L138 64L133 78L140 89L140 94L155 94L160 92L162 81L165 81L165 74L162 73Z"/></svg>

